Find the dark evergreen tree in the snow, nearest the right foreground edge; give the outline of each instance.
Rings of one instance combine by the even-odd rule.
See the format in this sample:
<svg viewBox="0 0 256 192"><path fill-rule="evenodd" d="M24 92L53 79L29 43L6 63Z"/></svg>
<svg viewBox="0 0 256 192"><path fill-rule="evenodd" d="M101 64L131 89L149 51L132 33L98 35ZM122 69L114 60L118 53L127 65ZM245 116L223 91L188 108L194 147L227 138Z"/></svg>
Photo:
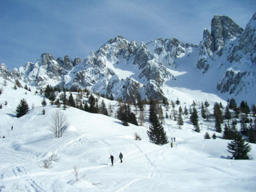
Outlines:
<svg viewBox="0 0 256 192"><path fill-rule="evenodd" d="M232 158L238 159L249 159L247 155L248 152L252 149L249 143L245 144L245 139L241 135L238 135L237 138L230 143L228 143L228 152L232 154Z"/></svg>

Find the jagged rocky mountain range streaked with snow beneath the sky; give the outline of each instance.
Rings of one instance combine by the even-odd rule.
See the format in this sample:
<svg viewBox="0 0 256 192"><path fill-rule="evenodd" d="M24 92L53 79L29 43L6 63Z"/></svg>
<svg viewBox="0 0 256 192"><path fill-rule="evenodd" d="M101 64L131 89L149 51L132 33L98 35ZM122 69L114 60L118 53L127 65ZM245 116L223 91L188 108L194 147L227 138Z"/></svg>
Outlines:
<svg viewBox="0 0 256 192"><path fill-rule="evenodd" d="M256 93L255 14L245 29L227 16L214 16L211 32L204 29L199 45L160 37L139 43L117 36L83 60L72 61L67 55L55 60L43 53L36 63L28 62L12 72L2 64L0 75L37 88L47 84L81 87L130 101L138 95L176 99L177 91L186 88L186 92L196 89L252 103Z"/></svg>

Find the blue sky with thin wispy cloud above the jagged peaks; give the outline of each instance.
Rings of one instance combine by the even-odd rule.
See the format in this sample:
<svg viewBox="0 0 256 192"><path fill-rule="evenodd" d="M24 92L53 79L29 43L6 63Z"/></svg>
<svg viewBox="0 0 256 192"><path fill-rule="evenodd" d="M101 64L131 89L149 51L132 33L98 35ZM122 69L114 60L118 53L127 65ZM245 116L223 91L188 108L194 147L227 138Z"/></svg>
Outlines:
<svg viewBox="0 0 256 192"><path fill-rule="evenodd" d="M245 28L255 11L254 0L0 0L0 63L12 70L43 52L85 58L117 35L199 44L214 14Z"/></svg>

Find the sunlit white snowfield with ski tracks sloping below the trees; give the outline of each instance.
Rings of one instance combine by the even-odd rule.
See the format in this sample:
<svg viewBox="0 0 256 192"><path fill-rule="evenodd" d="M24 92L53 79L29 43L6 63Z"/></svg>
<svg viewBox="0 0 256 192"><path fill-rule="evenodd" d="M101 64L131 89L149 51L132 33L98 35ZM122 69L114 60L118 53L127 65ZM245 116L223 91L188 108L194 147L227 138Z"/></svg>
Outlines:
<svg viewBox="0 0 256 192"><path fill-rule="evenodd" d="M125 127L114 117L73 107L64 111L50 106L48 100L47 106L42 107L43 96L35 94L35 90L14 90L13 83L7 81L4 86L3 81L0 77L3 90L0 96L3 106L0 109L1 192L241 192L256 189L256 145L250 144L250 160L231 160L227 151L230 140L221 139L222 134L216 134L216 140L204 139L205 131L213 135L214 121L202 125L201 132L197 133L188 118L184 119L182 129L178 129L175 121L165 119L169 140L176 137L176 141L173 148L170 144L158 146L149 142L148 123ZM15 110L23 98L30 111L17 118ZM117 106L116 101L105 102ZM60 138L53 137L48 127L56 110L63 112L70 122ZM141 141L134 139L135 132ZM124 155L123 163L118 158L120 151ZM51 161L52 168L45 169L43 161L52 154L57 161ZM114 166L110 165L111 154L115 157ZM77 166L78 181L74 166Z"/></svg>

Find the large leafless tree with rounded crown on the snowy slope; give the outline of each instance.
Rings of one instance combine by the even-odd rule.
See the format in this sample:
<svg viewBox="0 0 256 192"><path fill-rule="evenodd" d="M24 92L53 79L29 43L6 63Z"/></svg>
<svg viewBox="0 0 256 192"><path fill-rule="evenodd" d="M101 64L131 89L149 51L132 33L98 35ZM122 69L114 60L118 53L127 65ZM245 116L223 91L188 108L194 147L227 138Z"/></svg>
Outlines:
<svg viewBox="0 0 256 192"><path fill-rule="evenodd" d="M70 126L70 123L67 120L67 116L63 112L56 110L53 112L50 122L48 122L48 126L55 137L61 137Z"/></svg>

